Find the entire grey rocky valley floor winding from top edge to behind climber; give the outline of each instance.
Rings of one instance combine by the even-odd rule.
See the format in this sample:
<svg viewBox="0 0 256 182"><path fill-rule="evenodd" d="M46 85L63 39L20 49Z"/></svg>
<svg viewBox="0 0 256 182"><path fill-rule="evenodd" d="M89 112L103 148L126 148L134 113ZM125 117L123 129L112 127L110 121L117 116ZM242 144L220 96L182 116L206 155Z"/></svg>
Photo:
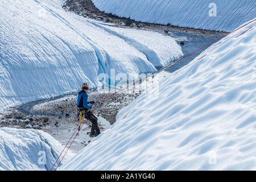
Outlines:
<svg viewBox="0 0 256 182"><path fill-rule="evenodd" d="M195 49L197 49L195 46L198 46L198 48L203 47L207 42L212 42L219 36L225 34L225 32L195 30L193 28L143 23L127 18L119 18L118 16L105 14L98 10L90 0L69 0L64 3L63 8L86 18L96 19L98 22L109 23L109 26L157 31L166 36L172 36L181 44L184 55L195 51ZM168 68L168 72L159 73L160 79L168 77L169 74L183 67L191 60L193 60L193 57L186 57L186 59L175 64L174 67ZM151 82L152 80L146 81L146 83ZM146 85L139 85L142 86L142 88L147 88ZM89 100L99 101L115 91L116 90L101 92L99 90L90 90ZM112 97L106 98L103 102L100 102L95 108L94 114L98 117L98 125L101 132L110 129L111 125L115 123L115 116L118 111L129 105L142 92L143 90L137 85L129 91L123 90L122 92L114 94ZM64 145L79 124L76 115L76 102L77 93L73 93L13 107L0 113L0 127L43 130L51 134ZM71 147L73 152L78 152L93 139L88 135L90 126L90 122L85 122L85 126L82 128L79 136Z"/></svg>

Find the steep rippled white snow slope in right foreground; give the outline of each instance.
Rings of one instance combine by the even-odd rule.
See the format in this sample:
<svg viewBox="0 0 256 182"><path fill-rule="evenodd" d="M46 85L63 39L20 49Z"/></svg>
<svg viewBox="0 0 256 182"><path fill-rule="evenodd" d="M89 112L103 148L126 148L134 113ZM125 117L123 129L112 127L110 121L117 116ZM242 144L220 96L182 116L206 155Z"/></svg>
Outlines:
<svg viewBox="0 0 256 182"><path fill-rule="evenodd" d="M213 44L158 92L139 96L60 169L255 170L255 25Z"/></svg>

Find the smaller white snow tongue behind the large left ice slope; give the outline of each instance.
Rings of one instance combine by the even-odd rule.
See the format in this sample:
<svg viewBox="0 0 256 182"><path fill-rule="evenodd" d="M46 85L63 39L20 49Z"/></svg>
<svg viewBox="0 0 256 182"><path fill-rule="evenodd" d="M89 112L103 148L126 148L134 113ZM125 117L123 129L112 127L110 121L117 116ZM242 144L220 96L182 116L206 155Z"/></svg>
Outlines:
<svg viewBox="0 0 256 182"><path fill-rule="evenodd" d="M116 35L127 43L137 48L147 56L154 66L163 66L182 55L181 47L177 46L175 39L168 39L154 31L117 28L104 26L97 23L96 26L104 28L110 34ZM154 39L148 39L148 37ZM156 40L157 43L156 43Z"/></svg>

